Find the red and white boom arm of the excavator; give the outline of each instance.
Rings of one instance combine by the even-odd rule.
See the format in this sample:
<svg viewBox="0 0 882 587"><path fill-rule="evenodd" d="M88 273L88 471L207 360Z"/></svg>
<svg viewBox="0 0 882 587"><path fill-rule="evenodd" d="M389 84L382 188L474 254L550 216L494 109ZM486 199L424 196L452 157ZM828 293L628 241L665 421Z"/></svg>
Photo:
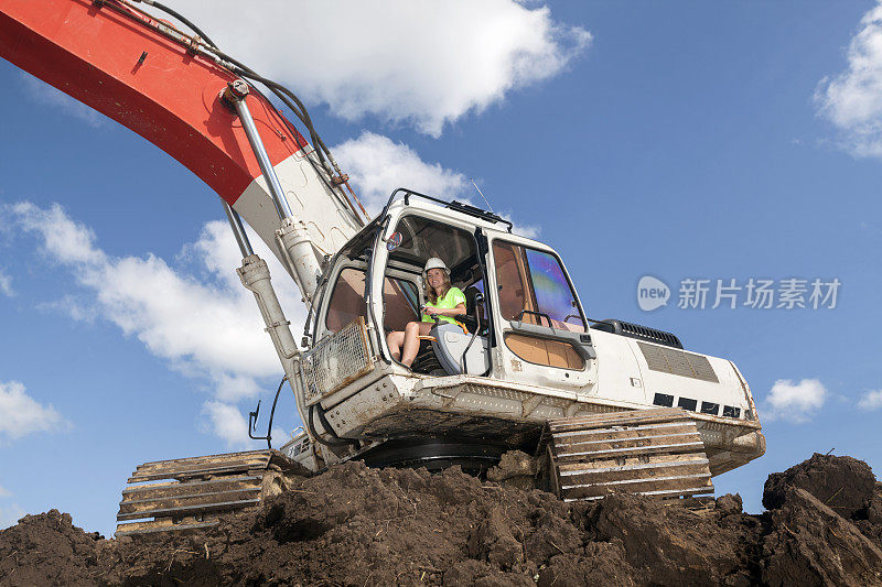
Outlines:
<svg viewBox="0 0 882 587"><path fill-rule="evenodd" d="M294 127L259 93L230 87L237 75L206 47L123 0L0 2L0 56L195 173L255 229L309 303L323 257L364 220ZM219 99L224 91L232 99ZM244 112L262 143L262 173Z"/></svg>

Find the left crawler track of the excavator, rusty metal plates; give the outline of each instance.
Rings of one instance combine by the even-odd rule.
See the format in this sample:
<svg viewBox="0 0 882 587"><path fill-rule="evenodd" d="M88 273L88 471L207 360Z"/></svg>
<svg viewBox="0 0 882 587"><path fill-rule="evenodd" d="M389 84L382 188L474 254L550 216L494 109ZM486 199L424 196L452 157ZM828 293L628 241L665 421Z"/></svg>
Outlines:
<svg viewBox="0 0 882 587"><path fill-rule="evenodd" d="M116 535L211 528L220 513L259 506L268 479L294 468L278 450L144 463L128 479L141 485L122 491Z"/></svg>

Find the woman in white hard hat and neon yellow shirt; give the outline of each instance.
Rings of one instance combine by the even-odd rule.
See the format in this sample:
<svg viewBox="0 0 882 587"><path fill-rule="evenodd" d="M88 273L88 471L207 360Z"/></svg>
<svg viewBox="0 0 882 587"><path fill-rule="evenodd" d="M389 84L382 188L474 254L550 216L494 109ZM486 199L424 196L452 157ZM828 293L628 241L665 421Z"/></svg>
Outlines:
<svg viewBox="0 0 882 587"><path fill-rule="evenodd" d="M465 314L465 294L459 287L451 286L450 270L441 259L438 257L429 259L422 275L427 284L426 297L428 300L422 306L422 322L409 322L404 331L395 330L386 337L392 359L400 361L406 367L413 363L420 348L418 337L429 334L435 317L456 324L453 316Z"/></svg>

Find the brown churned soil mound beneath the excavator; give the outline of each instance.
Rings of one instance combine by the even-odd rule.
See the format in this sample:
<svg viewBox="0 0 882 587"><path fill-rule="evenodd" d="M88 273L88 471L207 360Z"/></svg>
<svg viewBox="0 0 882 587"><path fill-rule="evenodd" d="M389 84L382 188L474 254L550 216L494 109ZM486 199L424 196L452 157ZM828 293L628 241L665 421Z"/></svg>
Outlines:
<svg viewBox="0 0 882 587"><path fill-rule="evenodd" d="M491 477L349 463L186 536L108 541L52 510L0 532L0 586L882 585L882 490L849 457L771 476L761 515Z"/></svg>

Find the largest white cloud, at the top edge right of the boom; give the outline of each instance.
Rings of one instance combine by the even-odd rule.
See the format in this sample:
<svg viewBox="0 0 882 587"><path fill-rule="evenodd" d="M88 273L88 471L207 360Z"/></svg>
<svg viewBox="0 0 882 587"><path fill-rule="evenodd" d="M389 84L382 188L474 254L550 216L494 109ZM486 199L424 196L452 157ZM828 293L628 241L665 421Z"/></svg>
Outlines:
<svg viewBox="0 0 882 587"><path fill-rule="evenodd" d="M338 117L375 115L435 137L558 75L591 43L549 8L512 0L265 0L260 10L187 0L175 9L226 53Z"/></svg>

